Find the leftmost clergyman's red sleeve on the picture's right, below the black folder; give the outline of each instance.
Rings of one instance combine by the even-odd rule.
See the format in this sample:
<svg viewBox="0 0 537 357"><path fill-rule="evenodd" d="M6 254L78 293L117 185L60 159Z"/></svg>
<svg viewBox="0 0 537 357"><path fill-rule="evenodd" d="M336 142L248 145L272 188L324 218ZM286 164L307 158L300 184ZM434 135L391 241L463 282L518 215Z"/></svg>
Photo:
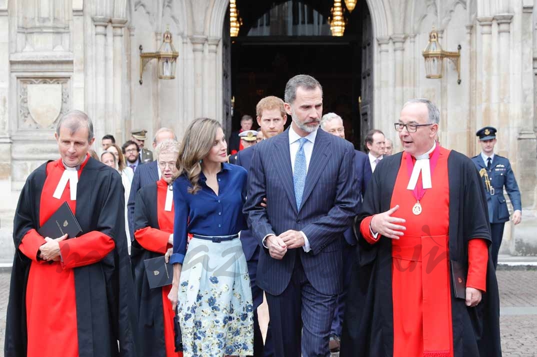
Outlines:
<svg viewBox="0 0 537 357"><path fill-rule="evenodd" d="M112 238L103 232L91 231L80 237L60 242L60 256L63 268L77 268L95 264L115 247Z"/></svg>

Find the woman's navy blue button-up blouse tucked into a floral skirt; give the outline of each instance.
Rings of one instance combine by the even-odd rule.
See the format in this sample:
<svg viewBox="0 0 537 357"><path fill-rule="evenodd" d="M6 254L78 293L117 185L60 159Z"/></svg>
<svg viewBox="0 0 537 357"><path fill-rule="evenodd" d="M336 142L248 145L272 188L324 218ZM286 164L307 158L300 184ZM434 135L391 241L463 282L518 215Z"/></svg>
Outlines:
<svg viewBox="0 0 537 357"><path fill-rule="evenodd" d="M247 229L242 206L246 192L246 170L242 166L223 163L216 174L219 193L207 186L207 178L200 174L201 190L188 193L192 187L185 175L173 183L173 254L172 264L183 264L186 254L187 233L202 236L229 236Z"/></svg>

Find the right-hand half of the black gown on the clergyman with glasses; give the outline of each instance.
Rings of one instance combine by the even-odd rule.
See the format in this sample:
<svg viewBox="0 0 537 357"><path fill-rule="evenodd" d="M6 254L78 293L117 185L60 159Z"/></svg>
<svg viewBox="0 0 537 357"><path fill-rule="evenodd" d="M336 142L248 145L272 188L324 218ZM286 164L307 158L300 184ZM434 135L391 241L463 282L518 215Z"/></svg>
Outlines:
<svg viewBox="0 0 537 357"><path fill-rule="evenodd" d="M475 165L465 155L452 151L449 172L449 259L468 262L470 239L484 239L490 246L487 196ZM452 190L463 187L463 190ZM496 272L489 248L487 292L481 303L468 308L452 295L452 324L455 357L501 356L499 333L499 293ZM458 342L458 343L457 343Z"/></svg>

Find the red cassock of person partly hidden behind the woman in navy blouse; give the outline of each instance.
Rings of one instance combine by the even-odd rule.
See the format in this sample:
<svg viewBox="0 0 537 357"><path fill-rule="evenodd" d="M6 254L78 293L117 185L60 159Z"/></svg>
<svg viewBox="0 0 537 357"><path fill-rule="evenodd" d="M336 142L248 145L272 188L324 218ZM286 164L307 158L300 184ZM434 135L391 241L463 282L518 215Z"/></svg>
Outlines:
<svg viewBox="0 0 537 357"><path fill-rule="evenodd" d="M146 227L134 232L134 238L144 248L151 252L164 255L166 250L172 247L168 243L170 234L173 233L173 203L171 211L164 210L168 183L164 178L157 181L157 221L159 228ZM162 287L162 307L164 317L164 343L166 345L166 357L183 356L182 352L175 352L175 332L173 329L173 312L171 302L168 299L171 285Z"/></svg>

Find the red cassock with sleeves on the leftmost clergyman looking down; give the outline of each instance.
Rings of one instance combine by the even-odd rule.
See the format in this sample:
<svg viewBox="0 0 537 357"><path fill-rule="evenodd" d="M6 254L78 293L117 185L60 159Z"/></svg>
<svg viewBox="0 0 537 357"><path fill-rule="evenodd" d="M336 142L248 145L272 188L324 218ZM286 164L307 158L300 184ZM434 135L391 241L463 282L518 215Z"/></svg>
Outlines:
<svg viewBox="0 0 537 357"><path fill-rule="evenodd" d="M78 170L78 177L88 158ZM60 199L53 198L64 170L61 159L47 164L39 210L41 225L65 201L72 212L76 212L76 201L70 199L70 184ZM74 268L97 263L114 249L114 241L99 231L67 239L60 242L61 260L53 263L38 259L39 248L45 243L45 238L31 229L19 245L19 250L32 260L26 287L27 355L77 357Z"/></svg>

